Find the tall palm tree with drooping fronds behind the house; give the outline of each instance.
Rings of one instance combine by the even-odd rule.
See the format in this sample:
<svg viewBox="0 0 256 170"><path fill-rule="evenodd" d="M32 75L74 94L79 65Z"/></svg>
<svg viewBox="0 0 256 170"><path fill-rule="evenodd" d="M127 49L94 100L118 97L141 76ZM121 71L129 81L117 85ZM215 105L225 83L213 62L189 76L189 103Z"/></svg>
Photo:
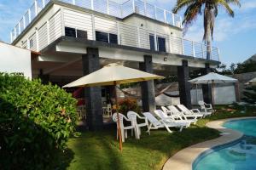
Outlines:
<svg viewBox="0 0 256 170"><path fill-rule="evenodd" d="M203 40L207 43L207 59L211 59L212 39L214 21L218 15L218 7L222 6L226 12L234 17L234 11L230 8L230 3L241 6L239 0L177 0L177 4L172 9L174 14L177 14L181 9L186 8L184 13L183 25L185 30L193 23L198 14L202 14L204 8L204 37ZM212 37L212 39L211 39Z"/></svg>

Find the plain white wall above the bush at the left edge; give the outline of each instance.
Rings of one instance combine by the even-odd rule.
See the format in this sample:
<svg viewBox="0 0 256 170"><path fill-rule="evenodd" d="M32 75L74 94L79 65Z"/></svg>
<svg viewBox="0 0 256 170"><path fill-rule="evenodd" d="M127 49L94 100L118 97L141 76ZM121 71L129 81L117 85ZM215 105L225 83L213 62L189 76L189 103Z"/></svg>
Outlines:
<svg viewBox="0 0 256 170"><path fill-rule="evenodd" d="M20 72L32 79L31 51L0 42L0 71Z"/></svg>

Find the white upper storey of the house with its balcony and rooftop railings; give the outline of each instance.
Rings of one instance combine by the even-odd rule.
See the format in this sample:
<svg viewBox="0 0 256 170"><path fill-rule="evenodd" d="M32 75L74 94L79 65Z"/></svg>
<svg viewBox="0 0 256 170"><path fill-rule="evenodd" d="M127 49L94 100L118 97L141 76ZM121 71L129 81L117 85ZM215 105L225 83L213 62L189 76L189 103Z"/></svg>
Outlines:
<svg viewBox="0 0 256 170"><path fill-rule="evenodd" d="M110 0L36 0L15 26L11 40L22 48L41 51L59 37L82 37L207 58L205 44L183 39L182 35L179 16L140 0L122 4ZM212 47L211 59L219 61L218 48Z"/></svg>

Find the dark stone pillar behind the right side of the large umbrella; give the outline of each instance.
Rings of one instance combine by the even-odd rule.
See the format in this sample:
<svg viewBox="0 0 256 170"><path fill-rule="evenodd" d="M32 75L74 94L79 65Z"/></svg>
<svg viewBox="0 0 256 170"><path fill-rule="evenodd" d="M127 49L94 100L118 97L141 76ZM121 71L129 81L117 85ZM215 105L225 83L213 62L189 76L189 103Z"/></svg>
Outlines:
<svg viewBox="0 0 256 170"><path fill-rule="evenodd" d="M153 73L153 63L151 55L144 55L144 62L139 64L141 71ZM155 110L155 94L154 81L141 82L143 111L154 112Z"/></svg>

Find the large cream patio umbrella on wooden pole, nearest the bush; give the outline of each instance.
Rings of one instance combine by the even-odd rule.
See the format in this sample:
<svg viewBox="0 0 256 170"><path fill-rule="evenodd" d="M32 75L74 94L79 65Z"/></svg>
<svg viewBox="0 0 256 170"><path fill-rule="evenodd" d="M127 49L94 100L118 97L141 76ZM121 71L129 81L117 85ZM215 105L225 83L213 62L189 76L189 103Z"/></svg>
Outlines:
<svg viewBox="0 0 256 170"><path fill-rule="evenodd" d="M69 84L63 86L63 88L72 88L72 87L95 87L95 86L109 86L129 83L129 82L143 82L154 79L162 79L164 77L160 77L154 74L150 74L144 71L138 71L136 69L131 69L129 67L125 67L123 65L118 64L109 64L102 69L92 72L85 77L81 77L74 82L70 82ZM117 102L117 94L115 94L115 102ZM117 107L118 110L118 107ZM117 111L119 114L119 111ZM119 128L119 115L118 115L118 128ZM122 135L119 128L119 149L122 150Z"/></svg>

